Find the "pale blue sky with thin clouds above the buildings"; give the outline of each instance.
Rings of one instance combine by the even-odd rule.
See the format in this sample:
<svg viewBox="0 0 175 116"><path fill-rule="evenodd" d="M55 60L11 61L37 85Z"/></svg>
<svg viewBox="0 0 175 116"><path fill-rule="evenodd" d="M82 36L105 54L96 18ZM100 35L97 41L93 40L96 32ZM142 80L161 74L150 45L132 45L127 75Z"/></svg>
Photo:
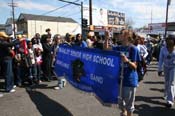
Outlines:
<svg viewBox="0 0 175 116"><path fill-rule="evenodd" d="M12 9L8 6L12 0L0 0L0 24L5 24L7 18L12 17ZM89 0L67 0L84 5ZM167 0L92 0L93 7L104 8L125 13L126 20L132 20L133 27L143 27L148 23L165 22ZM70 17L80 23L80 6L60 2L59 0L14 0L15 18L20 13ZM57 9L53 12L50 12ZM175 0L171 0L169 6L169 22L175 22ZM151 13L152 12L152 13Z"/></svg>

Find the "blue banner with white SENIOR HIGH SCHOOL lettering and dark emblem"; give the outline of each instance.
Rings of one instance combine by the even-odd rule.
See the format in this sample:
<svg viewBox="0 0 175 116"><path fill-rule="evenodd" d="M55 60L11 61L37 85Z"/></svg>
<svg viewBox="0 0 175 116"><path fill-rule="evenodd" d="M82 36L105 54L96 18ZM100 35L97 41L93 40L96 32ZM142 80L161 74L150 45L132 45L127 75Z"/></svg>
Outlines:
<svg viewBox="0 0 175 116"><path fill-rule="evenodd" d="M93 92L104 103L117 103L120 57L118 52L60 45L55 72L74 87Z"/></svg>

